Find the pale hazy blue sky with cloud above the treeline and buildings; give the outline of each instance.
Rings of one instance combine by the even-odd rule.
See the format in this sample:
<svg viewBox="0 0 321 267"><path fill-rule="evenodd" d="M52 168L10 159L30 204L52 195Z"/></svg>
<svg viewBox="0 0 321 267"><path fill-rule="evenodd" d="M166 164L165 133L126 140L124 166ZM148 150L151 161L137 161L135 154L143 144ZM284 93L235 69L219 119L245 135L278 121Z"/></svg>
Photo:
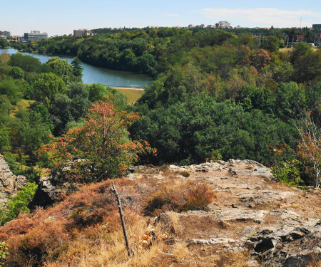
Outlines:
<svg viewBox="0 0 321 267"><path fill-rule="evenodd" d="M321 1L282 0L14 0L0 4L0 31L39 30L49 36L78 28L188 26L228 21L232 26L311 27L321 23Z"/></svg>

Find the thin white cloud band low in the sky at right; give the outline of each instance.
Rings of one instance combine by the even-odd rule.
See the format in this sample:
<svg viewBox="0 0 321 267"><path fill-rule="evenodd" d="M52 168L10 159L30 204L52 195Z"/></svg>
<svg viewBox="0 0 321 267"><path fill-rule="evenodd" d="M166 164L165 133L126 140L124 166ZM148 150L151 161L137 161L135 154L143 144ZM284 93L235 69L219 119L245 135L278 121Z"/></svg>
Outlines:
<svg viewBox="0 0 321 267"><path fill-rule="evenodd" d="M281 10L281 9L203 9L201 13L208 19L216 21L230 21L240 26L299 26L302 18L302 26L312 26L319 21L320 12L310 10ZM236 26L236 25L235 25Z"/></svg>

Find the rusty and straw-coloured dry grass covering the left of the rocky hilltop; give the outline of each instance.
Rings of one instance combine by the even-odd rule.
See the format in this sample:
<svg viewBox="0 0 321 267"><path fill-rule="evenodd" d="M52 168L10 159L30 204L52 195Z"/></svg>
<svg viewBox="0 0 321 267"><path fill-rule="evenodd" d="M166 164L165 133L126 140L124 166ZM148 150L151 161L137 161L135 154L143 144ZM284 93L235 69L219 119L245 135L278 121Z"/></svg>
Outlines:
<svg viewBox="0 0 321 267"><path fill-rule="evenodd" d="M173 199L170 207L179 211L203 208L215 199L204 184L186 182L172 174L167 179L113 180L123 203L128 238L133 256L128 257L111 182L84 186L55 206L24 214L0 228L0 240L9 244L6 266L98 267L168 266L188 256L185 244L168 247L167 239L177 235L179 215L167 211L168 225L153 223L143 216L148 199ZM157 186L156 186L157 184ZM164 254L163 252L169 252ZM174 256L168 256L174 255ZM160 260L161 259L161 260Z"/></svg>

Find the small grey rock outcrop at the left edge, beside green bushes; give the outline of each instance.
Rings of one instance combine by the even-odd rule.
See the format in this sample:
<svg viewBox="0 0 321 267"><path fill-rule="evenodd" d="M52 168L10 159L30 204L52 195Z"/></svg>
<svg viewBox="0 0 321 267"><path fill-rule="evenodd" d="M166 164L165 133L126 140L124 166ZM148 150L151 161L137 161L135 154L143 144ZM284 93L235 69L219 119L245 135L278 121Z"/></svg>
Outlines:
<svg viewBox="0 0 321 267"><path fill-rule="evenodd" d="M14 175L4 157L0 154L0 206L6 204L9 197L26 185L26 177Z"/></svg>

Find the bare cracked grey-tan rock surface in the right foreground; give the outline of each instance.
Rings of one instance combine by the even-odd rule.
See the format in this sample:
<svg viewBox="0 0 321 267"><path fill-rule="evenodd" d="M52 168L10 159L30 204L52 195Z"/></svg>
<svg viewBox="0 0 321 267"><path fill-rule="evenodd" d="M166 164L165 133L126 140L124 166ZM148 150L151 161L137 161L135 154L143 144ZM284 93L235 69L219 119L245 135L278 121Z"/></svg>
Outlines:
<svg viewBox="0 0 321 267"><path fill-rule="evenodd" d="M321 258L321 192L304 192L275 181L253 160L170 166L212 184L218 201L207 211L187 211L180 222L198 228L185 235L190 245L250 251L248 266L308 266ZM186 222L185 222L186 221ZM205 223L208 228L204 227Z"/></svg>

